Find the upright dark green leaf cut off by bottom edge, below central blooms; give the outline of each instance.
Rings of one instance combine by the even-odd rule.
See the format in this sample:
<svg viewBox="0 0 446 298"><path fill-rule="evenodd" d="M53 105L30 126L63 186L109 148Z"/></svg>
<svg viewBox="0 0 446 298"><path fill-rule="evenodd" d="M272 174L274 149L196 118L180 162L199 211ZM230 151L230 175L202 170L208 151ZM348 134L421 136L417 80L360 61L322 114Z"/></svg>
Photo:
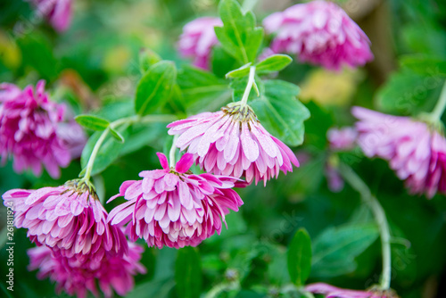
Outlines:
<svg viewBox="0 0 446 298"><path fill-rule="evenodd" d="M175 281L179 298L196 298L202 291L200 255L194 247L178 250L175 262Z"/></svg>

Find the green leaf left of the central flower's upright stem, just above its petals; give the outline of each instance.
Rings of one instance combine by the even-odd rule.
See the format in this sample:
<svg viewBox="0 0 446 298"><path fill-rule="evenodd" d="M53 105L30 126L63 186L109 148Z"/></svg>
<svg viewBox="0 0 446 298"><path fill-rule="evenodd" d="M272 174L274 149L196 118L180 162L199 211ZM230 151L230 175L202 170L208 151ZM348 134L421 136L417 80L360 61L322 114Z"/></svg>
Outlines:
<svg viewBox="0 0 446 298"><path fill-rule="evenodd" d="M188 113L218 110L231 98L227 80L194 67L185 67L179 71L178 85Z"/></svg>

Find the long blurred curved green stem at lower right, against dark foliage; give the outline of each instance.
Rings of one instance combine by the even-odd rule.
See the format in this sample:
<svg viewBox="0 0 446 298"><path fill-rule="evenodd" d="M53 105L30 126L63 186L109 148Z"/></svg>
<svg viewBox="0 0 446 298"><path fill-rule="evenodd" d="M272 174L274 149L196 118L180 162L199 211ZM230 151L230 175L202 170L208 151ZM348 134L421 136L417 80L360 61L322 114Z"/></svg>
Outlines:
<svg viewBox="0 0 446 298"><path fill-rule="evenodd" d="M376 224L379 228L379 234L381 237L381 250L383 253L383 272L381 274L380 286L383 290L388 290L391 284L392 277L392 255L390 244L390 229L389 223L385 217L385 211L383 206L379 203L374 195L370 192L370 189L359 178L351 168L343 163L339 165L339 172L343 178L361 195L362 201L368 205L376 220Z"/></svg>

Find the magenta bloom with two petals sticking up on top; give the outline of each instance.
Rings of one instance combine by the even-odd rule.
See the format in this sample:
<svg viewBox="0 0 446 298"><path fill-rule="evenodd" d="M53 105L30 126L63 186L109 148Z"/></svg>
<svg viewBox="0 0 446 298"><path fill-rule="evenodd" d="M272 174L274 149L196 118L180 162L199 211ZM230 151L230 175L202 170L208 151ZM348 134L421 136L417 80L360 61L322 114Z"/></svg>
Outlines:
<svg viewBox="0 0 446 298"><path fill-rule="evenodd" d="M237 179L188 172L192 154L183 155L175 169L169 168L164 154L158 157L163 170L142 171L143 180L124 182L120 194L110 199L128 200L110 212L111 225L129 222L126 232L132 241L144 238L159 248L196 246L219 234L229 209L238 211L243 204L232 189Z"/></svg>

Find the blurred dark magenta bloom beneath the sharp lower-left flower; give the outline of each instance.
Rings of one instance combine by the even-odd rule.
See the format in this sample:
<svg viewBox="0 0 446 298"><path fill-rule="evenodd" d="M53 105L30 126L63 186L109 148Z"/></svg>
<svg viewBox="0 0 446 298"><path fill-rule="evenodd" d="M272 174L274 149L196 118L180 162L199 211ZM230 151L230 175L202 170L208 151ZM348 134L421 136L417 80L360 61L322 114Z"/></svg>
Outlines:
<svg viewBox="0 0 446 298"><path fill-rule="evenodd" d="M98 268L90 269L83 263L72 266L70 258L44 245L28 250L29 270L38 269L39 279L49 277L56 283L59 294L64 290L67 294L85 298L90 291L97 297L97 284L106 298L113 296L113 290L124 296L135 286L134 276L145 273L145 267L139 262L142 252L143 247L128 244L128 253L107 253Z"/></svg>

